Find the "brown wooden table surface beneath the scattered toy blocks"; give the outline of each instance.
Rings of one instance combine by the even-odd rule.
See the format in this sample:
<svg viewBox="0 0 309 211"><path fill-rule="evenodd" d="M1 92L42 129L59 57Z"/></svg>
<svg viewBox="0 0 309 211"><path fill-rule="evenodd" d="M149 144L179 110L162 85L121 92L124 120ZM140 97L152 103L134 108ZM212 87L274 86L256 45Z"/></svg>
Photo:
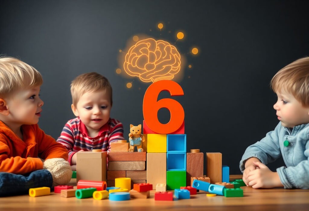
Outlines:
<svg viewBox="0 0 309 211"><path fill-rule="evenodd" d="M242 175L231 175L230 180ZM72 179L70 185L75 185ZM302 189L253 189L241 187L244 197L226 198L224 196L206 197L205 192L191 196L191 199L174 201L155 201L155 190L150 191L149 199L131 199L129 201L109 201L49 196L29 197L28 195L0 198L0 210L309 210L309 190Z"/></svg>

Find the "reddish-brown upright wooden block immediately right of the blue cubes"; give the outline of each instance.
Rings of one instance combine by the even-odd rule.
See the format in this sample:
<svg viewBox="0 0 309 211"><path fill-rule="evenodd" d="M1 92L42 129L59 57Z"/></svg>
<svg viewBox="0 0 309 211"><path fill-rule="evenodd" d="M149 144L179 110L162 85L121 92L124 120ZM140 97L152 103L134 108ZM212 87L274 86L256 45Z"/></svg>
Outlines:
<svg viewBox="0 0 309 211"><path fill-rule="evenodd" d="M187 186L191 184L191 177L203 177L204 153L187 153Z"/></svg>

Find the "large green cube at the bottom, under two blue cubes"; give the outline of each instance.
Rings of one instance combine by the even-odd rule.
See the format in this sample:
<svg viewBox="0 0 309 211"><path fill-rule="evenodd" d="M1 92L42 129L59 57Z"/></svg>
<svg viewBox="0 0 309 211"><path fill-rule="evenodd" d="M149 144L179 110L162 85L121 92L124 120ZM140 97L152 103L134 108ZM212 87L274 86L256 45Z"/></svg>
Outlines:
<svg viewBox="0 0 309 211"><path fill-rule="evenodd" d="M174 190L186 186L186 171L167 171L166 172L166 189Z"/></svg>

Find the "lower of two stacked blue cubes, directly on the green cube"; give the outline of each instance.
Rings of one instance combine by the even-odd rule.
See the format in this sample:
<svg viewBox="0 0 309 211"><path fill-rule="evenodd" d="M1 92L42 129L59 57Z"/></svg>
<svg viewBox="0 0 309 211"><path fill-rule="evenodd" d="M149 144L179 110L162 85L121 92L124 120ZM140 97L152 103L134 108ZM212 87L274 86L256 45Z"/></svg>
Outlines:
<svg viewBox="0 0 309 211"><path fill-rule="evenodd" d="M186 171L187 156L185 152L168 152L166 153L167 171Z"/></svg>

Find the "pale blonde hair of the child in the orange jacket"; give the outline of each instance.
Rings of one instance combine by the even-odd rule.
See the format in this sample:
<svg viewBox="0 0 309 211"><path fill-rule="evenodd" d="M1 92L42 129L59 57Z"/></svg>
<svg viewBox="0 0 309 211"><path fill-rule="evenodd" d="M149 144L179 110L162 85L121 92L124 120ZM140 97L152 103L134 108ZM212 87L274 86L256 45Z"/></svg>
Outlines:
<svg viewBox="0 0 309 211"><path fill-rule="evenodd" d="M40 86L42 75L34 67L13 57L0 57L0 97L6 97L19 88Z"/></svg>

